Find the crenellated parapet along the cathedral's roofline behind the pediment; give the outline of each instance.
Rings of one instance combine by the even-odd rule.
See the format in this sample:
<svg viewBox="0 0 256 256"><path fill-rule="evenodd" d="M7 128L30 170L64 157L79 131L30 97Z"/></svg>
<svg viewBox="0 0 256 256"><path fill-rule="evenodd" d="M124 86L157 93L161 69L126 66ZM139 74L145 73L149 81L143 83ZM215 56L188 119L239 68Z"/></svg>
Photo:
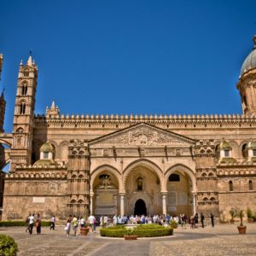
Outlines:
<svg viewBox="0 0 256 256"><path fill-rule="evenodd" d="M256 115L246 114L170 114L170 115L138 115L138 114L61 114L35 116L36 125L47 125L50 128L125 128L137 123L158 125L163 129L223 129L256 127Z"/></svg>

